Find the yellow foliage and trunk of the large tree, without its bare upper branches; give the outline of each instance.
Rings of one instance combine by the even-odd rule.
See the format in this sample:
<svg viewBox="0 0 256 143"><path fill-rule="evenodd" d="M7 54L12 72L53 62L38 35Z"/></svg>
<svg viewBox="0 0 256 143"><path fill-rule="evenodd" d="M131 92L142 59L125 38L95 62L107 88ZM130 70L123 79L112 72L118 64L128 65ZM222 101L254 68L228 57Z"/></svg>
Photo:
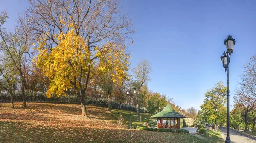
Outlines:
<svg viewBox="0 0 256 143"><path fill-rule="evenodd" d="M111 81L122 84L123 79L129 80L129 59L125 46L108 42L107 45L88 48L85 40L77 36L74 28L67 34L59 34L59 44L48 49L42 42L38 48L37 66L50 80L47 97L65 95L72 88L81 101L82 115L87 117L85 93L90 80L91 69L99 64L99 73L112 71Z"/></svg>

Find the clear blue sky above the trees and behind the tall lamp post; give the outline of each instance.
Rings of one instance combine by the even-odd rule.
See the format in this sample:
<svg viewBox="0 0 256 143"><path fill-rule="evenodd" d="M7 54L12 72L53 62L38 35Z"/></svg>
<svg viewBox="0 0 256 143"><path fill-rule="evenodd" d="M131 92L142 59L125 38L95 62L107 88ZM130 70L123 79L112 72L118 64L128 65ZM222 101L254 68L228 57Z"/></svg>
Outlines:
<svg viewBox="0 0 256 143"><path fill-rule="evenodd" d="M27 0L0 0L7 8L7 29L25 10ZM136 33L131 50L131 67L140 59L151 61L148 86L175 99L187 109L200 109L204 93L218 81L226 85L221 65L224 39L236 39L230 63L230 101L238 87L244 64L256 52L256 1L254 0L120 0Z"/></svg>

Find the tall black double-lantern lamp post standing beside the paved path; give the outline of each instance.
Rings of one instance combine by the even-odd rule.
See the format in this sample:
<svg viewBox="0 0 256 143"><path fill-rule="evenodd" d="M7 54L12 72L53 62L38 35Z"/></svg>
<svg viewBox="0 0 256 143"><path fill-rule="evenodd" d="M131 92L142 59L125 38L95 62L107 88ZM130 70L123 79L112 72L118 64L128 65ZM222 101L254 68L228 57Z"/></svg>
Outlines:
<svg viewBox="0 0 256 143"><path fill-rule="evenodd" d="M229 63L231 59L231 53L233 53L233 47L235 45L236 40L232 38L231 35L227 36L227 39L224 40L224 44L226 45L227 48L227 53L224 52L223 55L221 56L221 61L222 65L225 68L225 72L227 72L227 137L225 140L225 143L230 143L230 135L229 135L229 128L230 128L230 123L229 123Z"/></svg>

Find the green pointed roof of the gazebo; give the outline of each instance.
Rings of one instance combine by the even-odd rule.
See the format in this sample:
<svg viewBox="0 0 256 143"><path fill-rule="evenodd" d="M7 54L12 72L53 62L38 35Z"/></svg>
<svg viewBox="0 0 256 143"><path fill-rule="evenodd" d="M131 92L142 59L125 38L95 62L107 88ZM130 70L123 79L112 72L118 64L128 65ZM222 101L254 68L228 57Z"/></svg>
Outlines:
<svg viewBox="0 0 256 143"><path fill-rule="evenodd" d="M172 108L171 104L167 104L166 107L163 109L163 111L151 116L150 118L157 118L157 117L162 117L162 118L186 118L185 116L181 115L178 112L175 112L174 109Z"/></svg>

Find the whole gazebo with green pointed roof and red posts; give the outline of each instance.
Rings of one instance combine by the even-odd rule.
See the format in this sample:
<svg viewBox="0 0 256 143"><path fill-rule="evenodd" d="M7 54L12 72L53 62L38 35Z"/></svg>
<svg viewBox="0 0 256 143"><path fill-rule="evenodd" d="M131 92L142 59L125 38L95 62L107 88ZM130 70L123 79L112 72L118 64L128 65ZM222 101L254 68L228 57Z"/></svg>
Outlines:
<svg viewBox="0 0 256 143"><path fill-rule="evenodd" d="M163 111L150 118L157 118L157 129L180 129L180 118L186 117L175 112L171 104L167 104Z"/></svg>

